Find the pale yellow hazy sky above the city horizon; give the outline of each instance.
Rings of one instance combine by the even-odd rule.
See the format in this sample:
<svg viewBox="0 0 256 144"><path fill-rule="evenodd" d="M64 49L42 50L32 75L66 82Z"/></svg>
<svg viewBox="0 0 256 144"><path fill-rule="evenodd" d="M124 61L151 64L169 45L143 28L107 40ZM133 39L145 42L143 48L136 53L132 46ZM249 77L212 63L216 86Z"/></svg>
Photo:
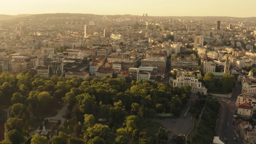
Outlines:
<svg viewBox="0 0 256 144"><path fill-rule="evenodd" d="M256 0L1 0L0 14L255 17Z"/></svg>

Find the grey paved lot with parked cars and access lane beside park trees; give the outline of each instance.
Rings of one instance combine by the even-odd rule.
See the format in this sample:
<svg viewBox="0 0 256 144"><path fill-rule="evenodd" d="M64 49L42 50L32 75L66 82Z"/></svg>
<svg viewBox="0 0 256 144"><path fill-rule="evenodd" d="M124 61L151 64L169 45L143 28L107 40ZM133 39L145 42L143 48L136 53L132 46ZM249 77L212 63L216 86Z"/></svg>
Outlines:
<svg viewBox="0 0 256 144"><path fill-rule="evenodd" d="M183 115L186 112L188 106L190 106L190 104L192 103L192 100L194 100L194 99L199 99L199 98L198 98L198 96L190 96L190 100L187 102L186 106L182 110L182 114L180 115L179 118L168 118L168 119L164 119L164 120L153 119L152 120L153 122L159 122L160 124L162 124L162 126L164 126L164 128L166 130L172 130L172 133L170 134L166 144L170 143L172 136L174 135L175 132L177 132L177 134L187 135L188 132L190 132L190 130L192 129L193 121L190 120L190 118L192 117L192 114L190 112L188 112L185 118L183 118ZM175 122L175 123L172 123L172 122Z"/></svg>

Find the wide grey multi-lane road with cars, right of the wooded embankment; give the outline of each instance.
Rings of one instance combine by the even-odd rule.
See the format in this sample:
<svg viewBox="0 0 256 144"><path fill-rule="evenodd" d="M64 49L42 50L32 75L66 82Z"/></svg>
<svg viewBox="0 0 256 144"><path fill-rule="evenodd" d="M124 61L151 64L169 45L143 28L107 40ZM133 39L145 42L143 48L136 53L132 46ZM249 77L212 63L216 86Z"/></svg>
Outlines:
<svg viewBox="0 0 256 144"><path fill-rule="evenodd" d="M218 119L218 124L216 127L216 136L220 137L220 140L224 142L224 138L228 138L227 144L242 144L241 140L238 139L234 132L233 126L233 115L236 109L236 99L239 94L241 94L242 87L241 84L236 84L231 98L221 99L220 98L220 114ZM234 135L238 142L236 142L233 138Z"/></svg>

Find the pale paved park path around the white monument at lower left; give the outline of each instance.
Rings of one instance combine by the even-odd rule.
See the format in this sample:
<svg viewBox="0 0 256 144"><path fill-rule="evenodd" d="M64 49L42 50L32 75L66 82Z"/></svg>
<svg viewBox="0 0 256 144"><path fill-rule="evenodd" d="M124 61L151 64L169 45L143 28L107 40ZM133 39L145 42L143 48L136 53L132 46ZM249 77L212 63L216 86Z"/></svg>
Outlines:
<svg viewBox="0 0 256 144"><path fill-rule="evenodd" d="M51 122L51 120L60 120L61 124L59 126L61 127L66 121L66 118L63 118L63 116L66 115L67 110L68 110L68 104L65 104L60 110L58 110L58 114L56 114L56 116L44 118L44 120L48 119L49 122ZM29 135L32 136L33 134L37 134L40 131L41 131L40 126L38 126L36 130L29 132ZM49 132L50 130L46 130L46 131Z"/></svg>

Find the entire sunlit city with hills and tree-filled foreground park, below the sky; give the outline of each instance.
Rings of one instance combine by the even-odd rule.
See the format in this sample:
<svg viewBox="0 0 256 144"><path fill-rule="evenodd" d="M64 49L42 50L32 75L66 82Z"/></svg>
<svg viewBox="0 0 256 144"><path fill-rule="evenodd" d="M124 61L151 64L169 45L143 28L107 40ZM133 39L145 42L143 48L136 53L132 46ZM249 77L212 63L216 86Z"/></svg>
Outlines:
<svg viewBox="0 0 256 144"><path fill-rule="evenodd" d="M0 144L256 144L256 17L0 15Z"/></svg>

